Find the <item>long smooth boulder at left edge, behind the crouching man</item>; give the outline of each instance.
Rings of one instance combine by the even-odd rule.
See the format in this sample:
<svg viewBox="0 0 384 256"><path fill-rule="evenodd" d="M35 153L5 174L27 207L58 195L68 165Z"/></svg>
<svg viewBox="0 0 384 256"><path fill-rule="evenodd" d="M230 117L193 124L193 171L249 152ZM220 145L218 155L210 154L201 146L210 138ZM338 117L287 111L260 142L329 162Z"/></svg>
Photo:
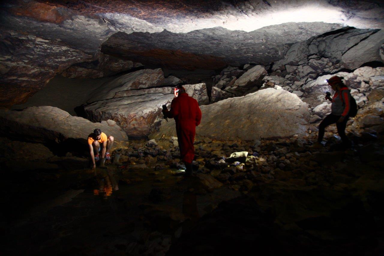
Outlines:
<svg viewBox="0 0 384 256"><path fill-rule="evenodd" d="M92 123L52 106L29 107L22 111L0 110L0 131L24 141L60 143L71 138L86 143L88 135L96 128L114 136L115 140L128 139L114 123Z"/></svg>

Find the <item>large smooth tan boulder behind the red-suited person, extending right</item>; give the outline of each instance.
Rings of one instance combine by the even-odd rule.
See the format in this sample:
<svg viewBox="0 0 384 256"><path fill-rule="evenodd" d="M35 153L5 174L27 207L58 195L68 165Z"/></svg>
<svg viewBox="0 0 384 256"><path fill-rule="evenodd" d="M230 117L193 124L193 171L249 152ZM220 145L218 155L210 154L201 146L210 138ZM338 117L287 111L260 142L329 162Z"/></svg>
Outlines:
<svg viewBox="0 0 384 256"><path fill-rule="evenodd" d="M202 121L196 133L218 140L255 140L260 138L305 135L310 118L306 103L282 89L267 88L242 97L228 98L201 106ZM174 136L173 120L162 121L160 130L150 138Z"/></svg>

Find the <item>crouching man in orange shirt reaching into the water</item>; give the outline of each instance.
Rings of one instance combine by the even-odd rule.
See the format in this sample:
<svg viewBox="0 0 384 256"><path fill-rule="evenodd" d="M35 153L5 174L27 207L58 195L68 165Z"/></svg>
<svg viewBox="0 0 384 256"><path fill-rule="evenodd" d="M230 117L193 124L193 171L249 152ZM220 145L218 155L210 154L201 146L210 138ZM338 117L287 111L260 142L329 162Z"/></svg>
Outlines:
<svg viewBox="0 0 384 256"><path fill-rule="evenodd" d="M101 145L100 145L101 144ZM109 155L109 150L113 145L113 136L109 136L105 133L102 133L100 129L95 129L93 133L88 136L88 145L89 145L89 155L91 155L91 160L93 163L92 169L96 168L96 161L99 161L99 152L101 150L101 162L100 166L104 167L104 162L106 159L110 160L111 156Z"/></svg>

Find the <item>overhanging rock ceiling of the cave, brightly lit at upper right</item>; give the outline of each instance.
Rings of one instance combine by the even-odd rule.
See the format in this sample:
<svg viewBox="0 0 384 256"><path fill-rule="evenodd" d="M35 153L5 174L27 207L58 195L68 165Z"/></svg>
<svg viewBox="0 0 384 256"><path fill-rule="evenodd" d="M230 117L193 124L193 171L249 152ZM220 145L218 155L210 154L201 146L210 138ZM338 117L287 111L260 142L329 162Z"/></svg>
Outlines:
<svg viewBox="0 0 384 256"><path fill-rule="evenodd" d="M9 99L28 97L100 53L179 70L220 70L270 65L293 43L339 28L384 27L382 1L6 0L0 15L0 67L7 74L1 83L17 86L7 89Z"/></svg>

